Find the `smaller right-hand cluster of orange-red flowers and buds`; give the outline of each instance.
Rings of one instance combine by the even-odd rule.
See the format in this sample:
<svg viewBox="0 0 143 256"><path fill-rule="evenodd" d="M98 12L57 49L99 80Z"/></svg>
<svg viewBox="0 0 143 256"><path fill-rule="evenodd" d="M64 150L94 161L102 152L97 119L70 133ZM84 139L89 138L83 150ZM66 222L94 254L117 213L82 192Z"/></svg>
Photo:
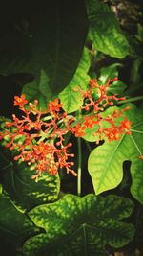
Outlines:
<svg viewBox="0 0 143 256"><path fill-rule="evenodd" d="M96 144L99 143L100 140L108 138L109 141L118 140L122 134L130 134L130 128L132 122L129 121L122 113L129 109L129 107L125 107L120 111L113 111L111 115L104 117L102 114L105 108L108 105L114 105L114 101L125 100L125 97L117 97L117 94L107 95L108 87L111 86L112 81L116 81L117 78L111 79L105 85L98 85L97 80L93 79L90 81L90 88L86 92L81 90L78 87L79 93L83 95L84 104L81 106L81 110L86 111L86 115L84 115L84 122L77 123L76 127L72 128L72 132L74 132L75 136L84 136L87 128L95 128L95 132L92 134L96 137L98 136L98 140L96 140ZM98 99L93 99L94 88L96 89L96 94L98 95ZM76 90L76 91L77 91ZM122 120L117 124L118 119ZM106 124L106 127L104 128Z"/></svg>

